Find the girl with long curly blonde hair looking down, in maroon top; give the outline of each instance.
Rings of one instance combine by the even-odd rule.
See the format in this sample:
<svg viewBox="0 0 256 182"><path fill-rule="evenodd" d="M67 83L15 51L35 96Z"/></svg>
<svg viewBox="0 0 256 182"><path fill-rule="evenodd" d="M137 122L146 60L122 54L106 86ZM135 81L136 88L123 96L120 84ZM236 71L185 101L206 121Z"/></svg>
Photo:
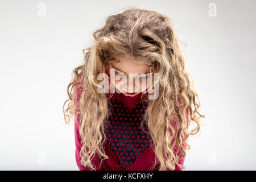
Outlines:
<svg viewBox="0 0 256 182"><path fill-rule="evenodd" d="M204 115L170 20L131 8L94 32L63 105L66 123L75 115L80 170L185 168L187 139Z"/></svg>

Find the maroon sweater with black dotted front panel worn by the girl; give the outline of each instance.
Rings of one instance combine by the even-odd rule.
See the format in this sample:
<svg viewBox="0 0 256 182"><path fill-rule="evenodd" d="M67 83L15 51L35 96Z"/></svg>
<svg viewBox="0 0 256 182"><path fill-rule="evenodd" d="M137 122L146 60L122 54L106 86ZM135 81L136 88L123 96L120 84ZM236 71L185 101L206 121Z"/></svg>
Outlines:
<svg viewBox="0 0 256 182"><path fill-rule="evenodd" d="M76 101L79 101L81 89L76 92ZM152 139L148 134L148 127L144 123L141 128L142 117L147 109L148 94L139 93L134 97L125 96L122 93L106 93L110 115L105 119L105 152L109 159L105 159L100 166L100 159L96 154L92 159L96 171L155 171L159 165L152 166L156 155L152 150ZM186 117L188 116L188 109ZM80 117L79 117L80 118ZM75 117L75 144L76 163L81 171L89 171L89 167L81 165L81 138L79 136L79 122ZM183 148L187 146L183 144ZM174 149L177 154L177 147ZM180 151L178 152L178 155ZM179 164L184 164L184 157ZM175 171L182 170L175 164Z"/></svg>

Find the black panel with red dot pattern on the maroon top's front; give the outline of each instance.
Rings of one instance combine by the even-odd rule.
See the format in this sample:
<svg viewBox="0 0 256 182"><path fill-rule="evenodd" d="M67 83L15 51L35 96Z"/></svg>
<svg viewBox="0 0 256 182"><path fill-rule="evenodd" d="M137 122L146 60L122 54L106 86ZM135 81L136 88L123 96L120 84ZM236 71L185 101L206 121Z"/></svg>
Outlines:
<svg viewBox="0 0 256 182"><path fill-rule="evenodd" d="M106 141L117 155L121 168L127 168L143 154L152 144L148 127L141 122L146 110L147 101L140 101L129 110L123 102L115 99L108 100L110 115L105 123Z"/></svg>

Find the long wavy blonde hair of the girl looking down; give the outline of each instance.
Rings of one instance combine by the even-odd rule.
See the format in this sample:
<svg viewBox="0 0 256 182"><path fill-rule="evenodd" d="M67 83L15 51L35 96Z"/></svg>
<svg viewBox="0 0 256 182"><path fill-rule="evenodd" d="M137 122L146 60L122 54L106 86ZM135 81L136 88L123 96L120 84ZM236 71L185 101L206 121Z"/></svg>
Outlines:
<svg viewBox="0 0 256 182"><path fill-rule="evenodd" d="M84 63L73 70L67 89L69 99L63 105L65 123L70 123L73 115L79 118L83 166L95 170L94 155L100 156L100 164L108 159L104 151L106 137L102 136L104 119L109 114L108 98L97 91L100 82L97 76L105 72L108 63L131 56L136 63L150 65L151 73L159 74L159 97L149 101L144 114L159 171L174 170L175 163L185 169L178 163L186 154L183 144L190 150L187 139L200 130L200 118L204 115L198 111L199 96L172 22L170 17L155 11L130 7L123 13L110 15L105 26L93 33L93 46L83 49ZM189 132L191 121L197 126ZM180 155L175 155L175 147Z"/></svg>

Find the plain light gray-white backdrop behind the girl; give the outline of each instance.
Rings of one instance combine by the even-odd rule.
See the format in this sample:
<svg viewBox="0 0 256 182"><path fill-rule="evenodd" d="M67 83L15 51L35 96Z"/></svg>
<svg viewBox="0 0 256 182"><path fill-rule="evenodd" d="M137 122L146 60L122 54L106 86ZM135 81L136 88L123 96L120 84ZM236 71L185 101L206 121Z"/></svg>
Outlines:
<svg viewBox="0 0 256 182"><path fill-rule="evenodd" d="M62 106L82 49L136 6L174 19L205 126L186 170L255 170L256 1L0 1L1 170L78 170Z"/></svg>

